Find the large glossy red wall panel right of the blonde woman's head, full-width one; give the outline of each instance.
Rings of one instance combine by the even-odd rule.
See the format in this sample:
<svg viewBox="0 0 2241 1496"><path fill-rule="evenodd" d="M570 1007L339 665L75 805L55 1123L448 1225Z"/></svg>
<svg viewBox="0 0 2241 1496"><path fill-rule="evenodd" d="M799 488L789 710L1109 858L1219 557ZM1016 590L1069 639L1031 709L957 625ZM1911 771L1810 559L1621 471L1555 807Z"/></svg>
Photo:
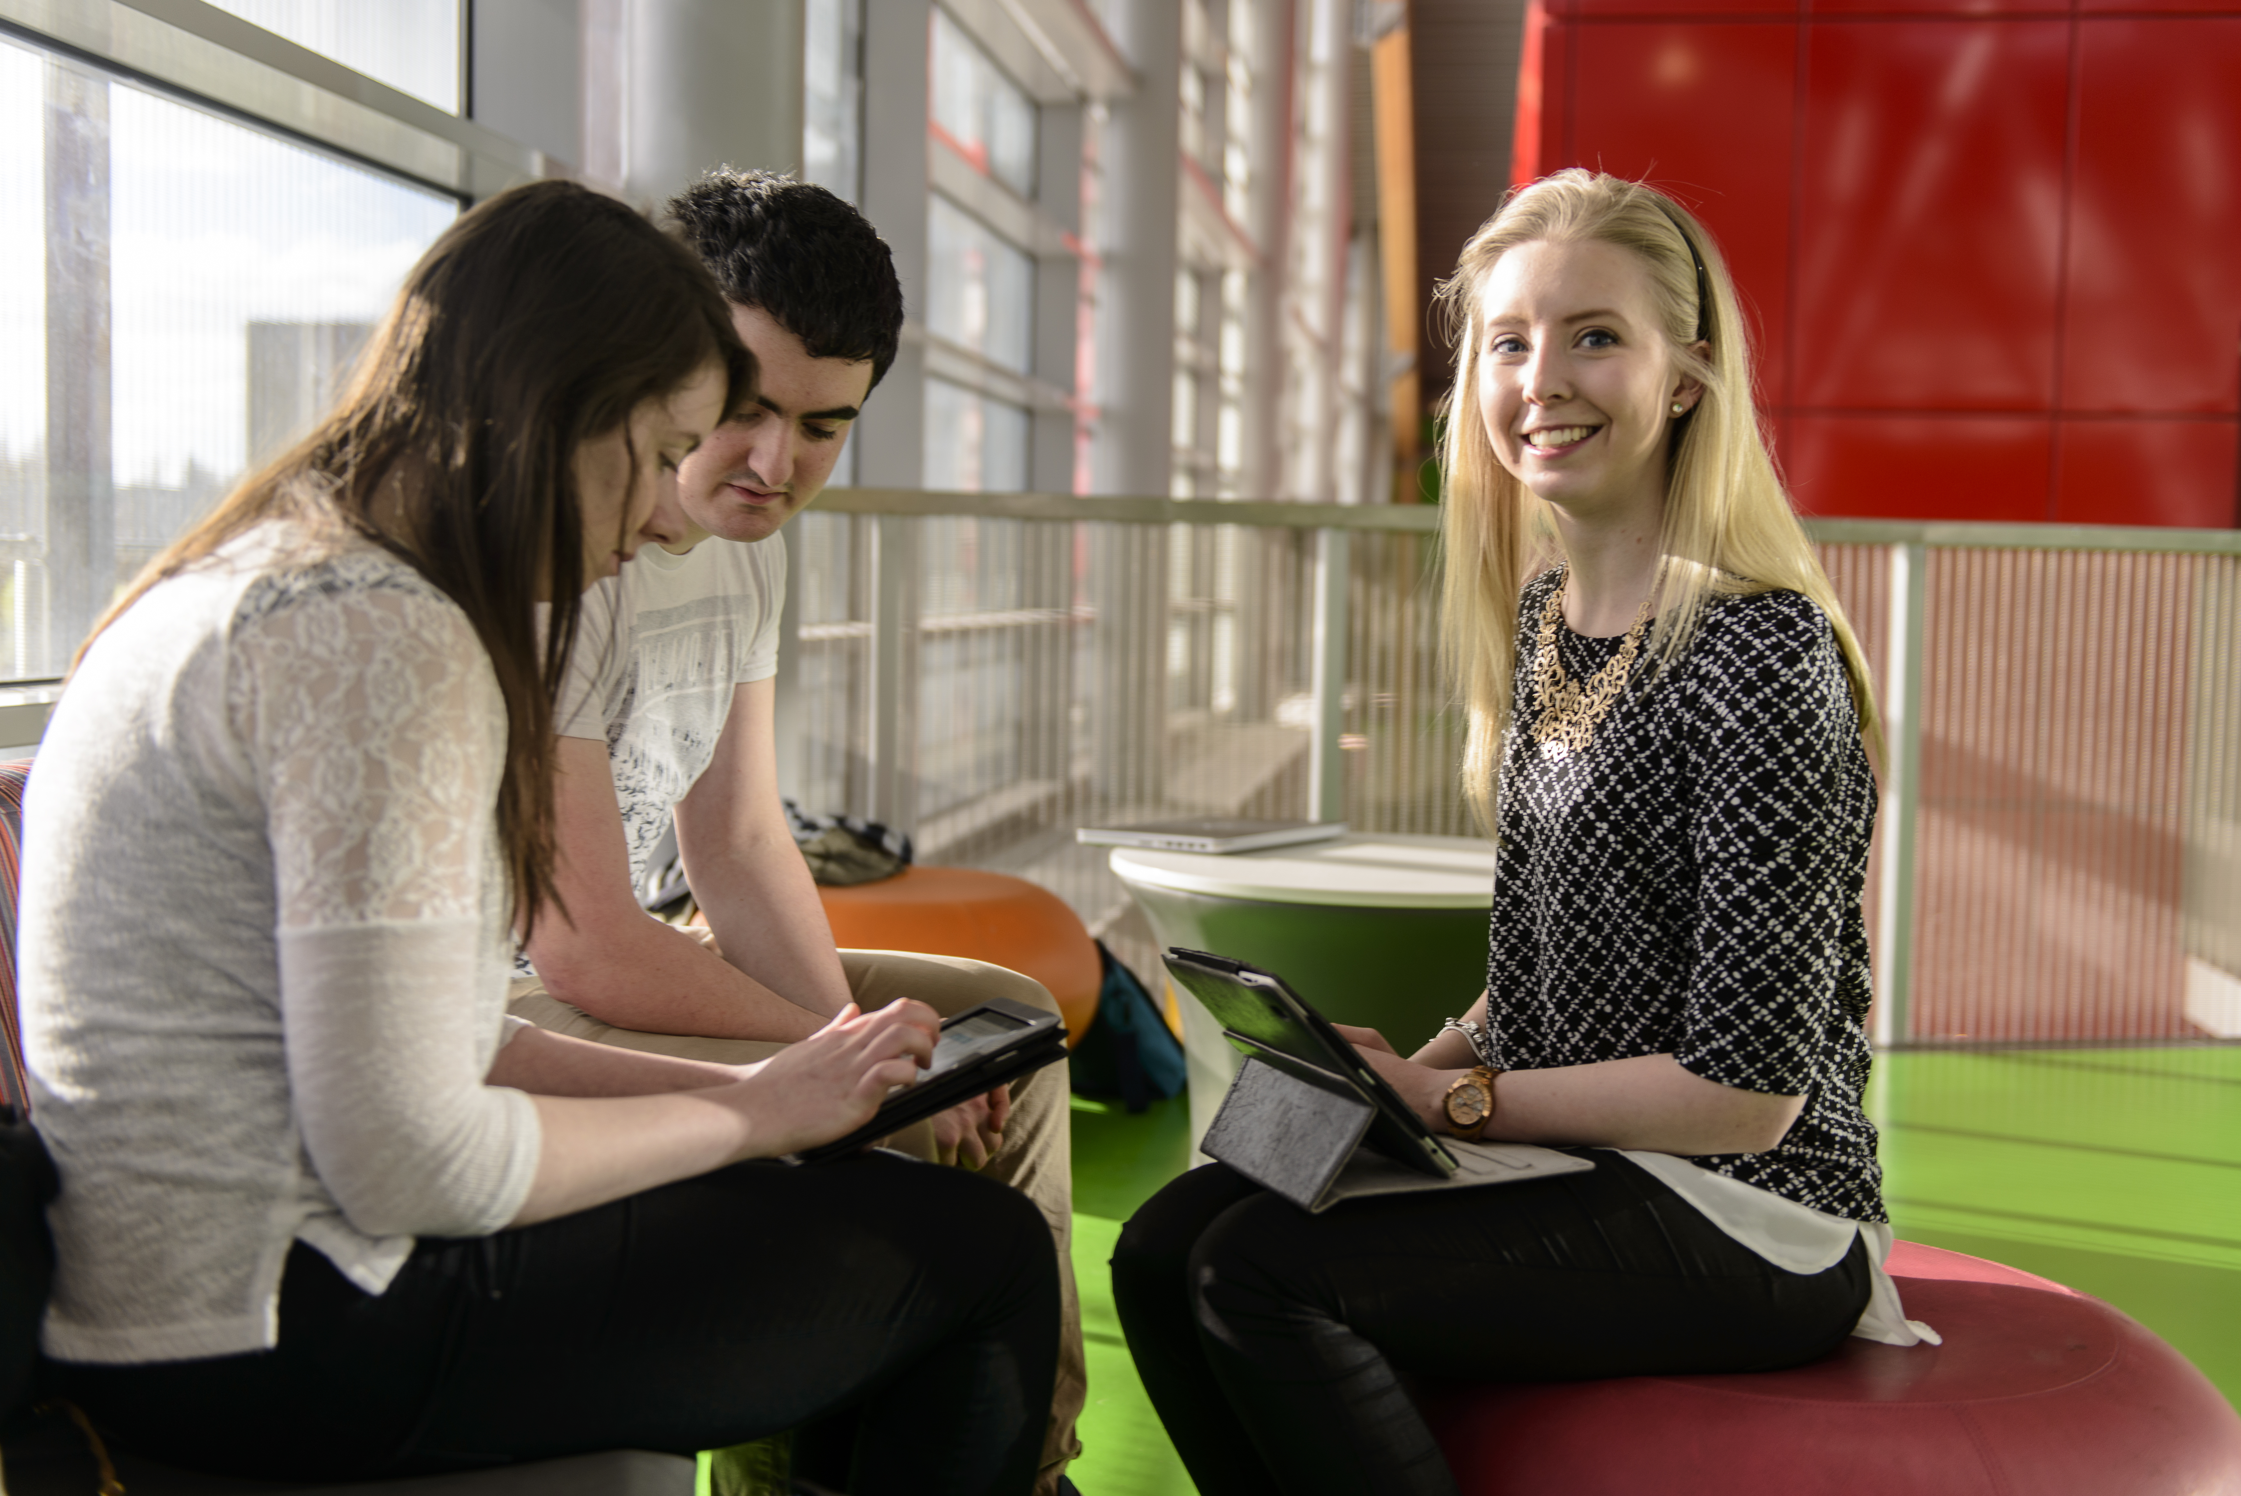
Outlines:
<svg viewBox="0 0 2241 1496"><path fill-rule="evenodd" d="M2059 20L1811 29L1797 404L2046 408L2066 65Z"/></svg>

